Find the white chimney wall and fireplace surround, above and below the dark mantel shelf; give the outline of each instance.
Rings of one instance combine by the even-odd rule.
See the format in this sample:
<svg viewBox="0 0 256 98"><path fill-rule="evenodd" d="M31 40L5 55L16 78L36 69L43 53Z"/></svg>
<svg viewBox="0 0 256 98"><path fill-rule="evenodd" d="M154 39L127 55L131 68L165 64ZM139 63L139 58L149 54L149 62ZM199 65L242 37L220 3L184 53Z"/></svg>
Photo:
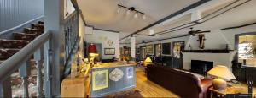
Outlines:
<svg viewBox="0 0 256 98"><path fill-rule="evenodd" d="M231 30L211 30L211 33L206 33L206 41L204 49L224 49L225 44L229 44L230 50L235 48L235 35L256 32L256 24L247 27L231 29ZM193 50L198 50L199 41L198 36L190 36L186 49L189 44ZM231 68L231 61L235 57L235 52L230 53L184 53L183 68L190 69L191 60L205 60L213 61L214 65L222 64Z"/></svg>

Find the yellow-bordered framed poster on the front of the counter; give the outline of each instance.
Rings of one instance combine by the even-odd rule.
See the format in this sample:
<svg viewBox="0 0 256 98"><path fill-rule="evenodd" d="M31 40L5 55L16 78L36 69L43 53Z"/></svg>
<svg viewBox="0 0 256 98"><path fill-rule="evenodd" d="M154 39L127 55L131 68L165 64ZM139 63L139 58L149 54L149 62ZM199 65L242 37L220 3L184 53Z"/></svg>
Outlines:
<svg viewBox="0 0 256 98"><path fill-rule="evenodd" d="M108 70L92 72L92 90L102 90L108 88Z"/></svg>

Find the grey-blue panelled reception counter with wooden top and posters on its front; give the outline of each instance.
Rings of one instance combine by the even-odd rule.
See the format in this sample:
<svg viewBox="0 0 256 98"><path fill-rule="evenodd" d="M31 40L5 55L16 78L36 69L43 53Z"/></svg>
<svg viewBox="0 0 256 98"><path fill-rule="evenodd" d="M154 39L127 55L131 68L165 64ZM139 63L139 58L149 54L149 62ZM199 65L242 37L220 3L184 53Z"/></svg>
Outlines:
<svg viewBox="0 0 256 98"><path fill-rule="evenodd" d="M90 71L90 97L101 97L136 87L134 63L102 63Z"/></svg>

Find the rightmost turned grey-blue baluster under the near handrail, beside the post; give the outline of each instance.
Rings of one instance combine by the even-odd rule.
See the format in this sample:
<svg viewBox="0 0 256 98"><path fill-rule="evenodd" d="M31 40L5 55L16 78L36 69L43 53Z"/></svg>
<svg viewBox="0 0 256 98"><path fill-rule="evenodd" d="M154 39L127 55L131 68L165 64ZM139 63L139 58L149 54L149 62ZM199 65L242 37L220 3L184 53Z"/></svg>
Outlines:
<svg viewBox="0 0 256 98"><path fill-rule="evenodd" d="M36 67L38 68L38 76L37 76L37 87L38 87L38 97L42 97L43 93L43 81L42 81L42 64L43 61L43 52L44 46L42 46L37 52L34 54L34 58L36 60Z"/></svg>

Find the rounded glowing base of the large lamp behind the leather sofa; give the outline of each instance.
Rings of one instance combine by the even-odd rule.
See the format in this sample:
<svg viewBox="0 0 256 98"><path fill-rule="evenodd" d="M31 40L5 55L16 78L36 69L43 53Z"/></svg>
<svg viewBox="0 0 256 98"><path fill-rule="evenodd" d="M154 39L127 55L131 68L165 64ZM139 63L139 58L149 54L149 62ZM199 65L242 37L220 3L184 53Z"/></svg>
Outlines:
<svg viewBox="0 0 256 98"><path fill-rule="evenodd" d="M215 90L224 91L227 88L227 82L224 79L213 79L212 84Z"/></svg>

